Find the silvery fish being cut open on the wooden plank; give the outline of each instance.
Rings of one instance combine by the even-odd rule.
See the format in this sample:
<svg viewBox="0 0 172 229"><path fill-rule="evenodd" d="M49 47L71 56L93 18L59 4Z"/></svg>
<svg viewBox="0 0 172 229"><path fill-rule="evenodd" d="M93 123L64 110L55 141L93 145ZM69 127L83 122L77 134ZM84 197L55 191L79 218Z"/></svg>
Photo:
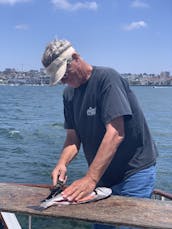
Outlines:
<svg viewBox="0 0 172 229"><path fill-rule="evenodd" d="M46 209L54 205L61 206L61 205L70 205L70 204L85 204L85 203L90 203L90 202L108 198L112 194L112 190L110 188L97 187L90 194L79 199L78 201L69 201L62 196L61 192L63 190L60 191L59 188L58 191L56 192L52 191L46 199L41 201L40 207Z"/></svg>

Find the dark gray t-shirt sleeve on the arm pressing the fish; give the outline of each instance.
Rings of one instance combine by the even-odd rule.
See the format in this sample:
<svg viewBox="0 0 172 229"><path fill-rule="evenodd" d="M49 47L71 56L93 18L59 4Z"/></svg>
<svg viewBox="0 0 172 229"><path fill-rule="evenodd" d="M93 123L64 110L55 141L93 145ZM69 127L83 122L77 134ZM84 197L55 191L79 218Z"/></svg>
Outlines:
<svg viewBox="0 0 172 229"><path fill-rule="evenodd" d="M125 118L132 116L132 110L122 79L120 76L113 74L111 72L111 75L104 79L100 90L101 119L104 124L120 116L125 116Z"/></svg>

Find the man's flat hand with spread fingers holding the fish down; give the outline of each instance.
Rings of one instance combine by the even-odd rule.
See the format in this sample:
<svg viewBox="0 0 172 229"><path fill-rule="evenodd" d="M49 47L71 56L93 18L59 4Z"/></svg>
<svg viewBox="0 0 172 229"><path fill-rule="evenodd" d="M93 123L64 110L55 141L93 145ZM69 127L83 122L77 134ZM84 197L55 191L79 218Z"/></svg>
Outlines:
<svg viewBox="0 0 172 229"><path fill-rule="evenodd" d="M91 177L85 176L79 180L74 181L67 187L62 195L69 201L78 201L79 199L90 194L96 187L96 182Z"/></svg>

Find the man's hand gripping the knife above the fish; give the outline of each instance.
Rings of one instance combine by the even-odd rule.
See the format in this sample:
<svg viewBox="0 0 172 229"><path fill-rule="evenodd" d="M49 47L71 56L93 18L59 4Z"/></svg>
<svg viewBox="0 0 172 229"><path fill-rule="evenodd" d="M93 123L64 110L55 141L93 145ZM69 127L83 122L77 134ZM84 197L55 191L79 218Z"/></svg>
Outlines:
<svg viewBox="0 0 172 229"><path fill-rule="evenodd" d="M52 171L51 177L53 180L53 185L57 184L57 181L63 181L64 183L67 180L67 167L64 164L58 164Z"/></svg>

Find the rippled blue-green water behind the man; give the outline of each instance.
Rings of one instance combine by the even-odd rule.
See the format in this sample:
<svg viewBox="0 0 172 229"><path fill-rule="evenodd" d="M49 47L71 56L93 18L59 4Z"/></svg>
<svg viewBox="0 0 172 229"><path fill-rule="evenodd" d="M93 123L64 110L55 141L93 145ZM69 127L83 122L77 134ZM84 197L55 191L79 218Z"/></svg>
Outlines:
<svg viewBox="0 0 172 229"><path fill-rule="evenodd" d="M65 137L63 88L0 86L0 182L51 183ZM159 150L156 187L172 192L172 87L132 89ZM69 166L69 183L82 177L86 169L81 150ZM34 220L33 228L40 219ZM41 222L44 226L39 228L90 228L78 222L69 227L66 221L57 227L54 219ZM49 227L45 227L47 222Z"/></svg>

